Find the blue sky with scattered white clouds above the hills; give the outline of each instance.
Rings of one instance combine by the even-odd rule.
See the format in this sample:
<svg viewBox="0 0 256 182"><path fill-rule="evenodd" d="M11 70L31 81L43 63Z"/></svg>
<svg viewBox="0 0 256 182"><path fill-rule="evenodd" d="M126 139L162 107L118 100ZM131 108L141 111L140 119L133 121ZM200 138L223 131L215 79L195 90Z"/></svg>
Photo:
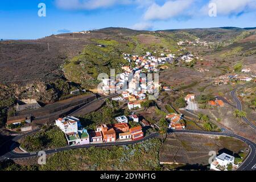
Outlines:
<svg viewBox="0 0 256 182"><path fill-rule="evenodd" d="M38 16L39 3L45 3L46 17ZM208 14L210 3L216 5L214 17ZM166 30L224 26L256 27L256 0L0 1L1 39L38 39L104 27Z"/></svg>

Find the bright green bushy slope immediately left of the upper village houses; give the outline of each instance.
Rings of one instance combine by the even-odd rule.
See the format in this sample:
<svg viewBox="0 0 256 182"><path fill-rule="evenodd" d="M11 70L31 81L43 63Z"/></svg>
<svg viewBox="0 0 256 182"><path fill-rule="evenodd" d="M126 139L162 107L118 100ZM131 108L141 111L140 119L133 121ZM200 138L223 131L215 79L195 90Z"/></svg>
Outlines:
<svg viewBox="0 0 256 182"><path fill-rule="evenodd" d="M79 56L73 57L64 65L65 76L73 82L82 84L85 88L96 86L100 73L110 75L110 68L115 69L116 73L121 72L121 66L129 64L123 59L122 53L130 53L133 48L131 44L118 43L115 40L92 39L92 42L95 45L86 45ZM105 47L96 44L102 44Z"/></svg>

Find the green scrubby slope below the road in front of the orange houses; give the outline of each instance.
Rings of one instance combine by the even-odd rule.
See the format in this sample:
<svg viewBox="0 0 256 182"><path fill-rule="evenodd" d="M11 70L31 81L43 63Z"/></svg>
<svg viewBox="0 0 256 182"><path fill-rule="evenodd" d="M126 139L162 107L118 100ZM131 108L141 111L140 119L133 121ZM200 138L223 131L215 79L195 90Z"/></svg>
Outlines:
<svg viewBox="0 0 256 182"><path fill-rule="evenodd" d="M155 170L159 166L159 139L130 146L69 150L48 156L43 171Z"/></svg>

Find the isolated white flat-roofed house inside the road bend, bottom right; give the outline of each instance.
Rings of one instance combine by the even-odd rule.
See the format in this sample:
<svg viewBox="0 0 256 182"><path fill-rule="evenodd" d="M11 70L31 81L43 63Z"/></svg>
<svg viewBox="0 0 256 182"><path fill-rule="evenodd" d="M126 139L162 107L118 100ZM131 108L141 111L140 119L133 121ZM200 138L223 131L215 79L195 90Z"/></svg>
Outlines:
<svg viewBox="0 0 256 182"><path fill-rule="evenodd" d="M227 167L229 164L232 164L234 166L234 157L225 153L222 153L221 155L216 157L216 160L214 160L210 164L210 169L215 171L227 171Z"/></svg>

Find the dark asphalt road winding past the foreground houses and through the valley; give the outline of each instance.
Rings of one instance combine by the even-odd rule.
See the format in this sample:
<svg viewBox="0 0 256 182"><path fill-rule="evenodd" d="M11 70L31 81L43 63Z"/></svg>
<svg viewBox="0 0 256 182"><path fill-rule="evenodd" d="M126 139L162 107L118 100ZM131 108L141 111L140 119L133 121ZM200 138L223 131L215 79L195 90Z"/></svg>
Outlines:
<svg viewBox="0 0 256 182"><path fill-rule="evenodd" d="M242 109L242 105L241 102L238 100L238 98L236 97L235 94L236 90L233 90L231 92L232 96L234 97L234 100L237 102L237 108L238 109ZM104 98L100 98L100 100L105 100L106 98L109 97L113 97L115 95L112 96L108 96L108 97L104 97ZM98 100L96 100L98 101ZM88 106L92 103L94 103L95 101L90 102L89 104L86 104L85 106ZM83 107L85 107L83 106ZM81 107L79 110L81 110L83 107ZM76 110L78 111L78 110ZM72 113L73 114L73 113ZM250 123L250 121L246 118L245 119L246 122ZM250 125L252 125L253 123L250 123ZM254 126L254 125L253 125ZM255 126L254 126L255 129ZM28 134L32 134L37 132L38 130L35 131L31 131ZM252 142L249 139L243 138L239 135L236 134L232 134L232 133L216 133L216 132L208 132L208 131L198 131L198 130L180 130L180 131L168 131L168 134L172 134L172 133L187 133L187 134L200 134L200 135L213 135L213 136L225 136L225 137L233 137L233 138L237 138L242 140L243 142L245 142L246 144L249 145L250 147L250 153L249 155L247 155L246 159L243 160L243 163L237 168L238 171L251 171L251 170L255 170L254 166L256 164L256 144L254 142ZM27 134L26 134L27 135ZM0 146L0 160L5 160L5 159L26 159L26 158L31 158L31 157L36 157L38 156L38 152L32 152L32 153L18 153L14 151L14 148L19 146L19 143L17 142L20 138L22 138L24 135L19 135L18 137L15 137L11 140L8 140L6 143L2 144ZM144 140L148 140L150 138L156 138L159 136L159 133L152 133L146 137L144 137L141 140L137 140L137 141L129 141L129 142L113 142L113 143L97 143L97 144L86 144L86 145L81 145L81 146L72 146L72 147L63 147L63 148L57 148L57 149L53 149L53 150L46 150L46 154L54 154L56 152L61 152L61 151L67 151L67 150L72 150L72 149L78 149L78 148L89 148L89 147L109 147L109 146L123 146L123 145L128 145L128 144L135 144L135 143L139 143L142 142Z"/></svg>

